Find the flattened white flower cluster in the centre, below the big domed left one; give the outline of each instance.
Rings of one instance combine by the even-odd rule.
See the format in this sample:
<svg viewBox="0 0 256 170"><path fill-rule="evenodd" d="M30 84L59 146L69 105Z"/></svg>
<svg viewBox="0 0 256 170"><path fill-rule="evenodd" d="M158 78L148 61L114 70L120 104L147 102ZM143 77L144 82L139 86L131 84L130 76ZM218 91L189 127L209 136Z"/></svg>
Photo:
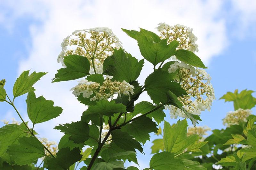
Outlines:
<svg viewBox="0 0 256 170"><path fill-rule="evenodd" d="M108 100L109 98L113 99L115 94L127 95L129 96L129 100L131 100L131 94L134 94L133 85L130 85L126 81L111 81L111 78L113 77L106 76L106 79L103 81L102 85L100 85L100 83L82 79L78 85L71 88L71 90L76 97L82 93L84 98L90 98L94 93L95 95L90 98L91 101Z"/></svg>

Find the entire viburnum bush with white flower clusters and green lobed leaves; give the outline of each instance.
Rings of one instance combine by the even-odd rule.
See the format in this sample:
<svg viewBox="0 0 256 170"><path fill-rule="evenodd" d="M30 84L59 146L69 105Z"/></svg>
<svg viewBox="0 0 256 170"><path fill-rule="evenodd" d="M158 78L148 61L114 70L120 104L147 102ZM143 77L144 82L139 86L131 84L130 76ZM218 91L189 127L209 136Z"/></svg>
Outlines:
<svg viewBox="0 0 256 170"><path fill-rule="evenodd" d="M0 128L0 169L77 169L138 170L124 167L124 162L138 164L136 153L156 133L147 170L174 169L253 169L256 161L256 118L250 109L256 99L252 91L228 92L222 97L234 101L235 111L227 114L226 129L215 129L206 137L207 127L197 127L200 114L210 111L215 100L211 77L204 63L195 55L196 36L186 26L160 23L158 34L122 29L138 42L144 59L138 61L126 52L116 35L107 27L76 30L61 43L57 70L52 82L82 78L71 88L84 104L78 122L55 127L64 133L59 144L39 137L38 123L59 116L63 109L52 100L36 97L33 85L46 73L21 73L13 85L12 99L0 82L0 101L10 104L21 122L13 121ZM143 64L152 64L144 84L137 79ZM150 74L149 71L152 71ZM145 74L145 73L144 73ZM147 92L151 101L141 101ZM28 127L14 105L14 100L27 95ZM137 100L141 101L138 102ZM176 124L166 122L163 110ZM164 121L163 132L159 124ZM191 121L193 127L188 128ZM187 129L188 128L188 129ZM41 159L38 161L38 159Z"/></svg>

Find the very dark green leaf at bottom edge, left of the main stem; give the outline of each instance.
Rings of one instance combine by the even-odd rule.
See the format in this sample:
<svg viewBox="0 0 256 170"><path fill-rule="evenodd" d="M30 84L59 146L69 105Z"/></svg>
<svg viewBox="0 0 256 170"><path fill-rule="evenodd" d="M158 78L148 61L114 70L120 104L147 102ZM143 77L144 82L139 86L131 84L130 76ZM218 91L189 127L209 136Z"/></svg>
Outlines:
<svg viewBox="0 0 256 170"><path fill-rule="evenodd" d="M46 168L49 170L66 170L69 166L73 165L77 161L82 159L80 155L80 149L74 148L69 150L69 148L62 148L56 154L56 158L48 159L46 163Z"/></svg>

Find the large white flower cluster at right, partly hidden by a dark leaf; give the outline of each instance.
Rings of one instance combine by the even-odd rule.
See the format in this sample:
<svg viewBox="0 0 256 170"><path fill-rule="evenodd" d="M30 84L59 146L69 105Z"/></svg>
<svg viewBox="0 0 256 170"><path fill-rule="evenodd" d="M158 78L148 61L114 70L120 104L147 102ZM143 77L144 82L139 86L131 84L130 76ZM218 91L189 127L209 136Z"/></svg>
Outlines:
<svg viewBox="0 0 256 170"><path fill-rule="evenodd" d="M181 87L188 93L178 98L188 113L200 115L206 109L210 111L215 95L210 81L211 76L205 70L175 62L168 71L169 73L177 71L175 81L180 83ZM167 109L170 111L171 118L188 118L184 111L173 105L165 105L165 110Z"/></svg>

